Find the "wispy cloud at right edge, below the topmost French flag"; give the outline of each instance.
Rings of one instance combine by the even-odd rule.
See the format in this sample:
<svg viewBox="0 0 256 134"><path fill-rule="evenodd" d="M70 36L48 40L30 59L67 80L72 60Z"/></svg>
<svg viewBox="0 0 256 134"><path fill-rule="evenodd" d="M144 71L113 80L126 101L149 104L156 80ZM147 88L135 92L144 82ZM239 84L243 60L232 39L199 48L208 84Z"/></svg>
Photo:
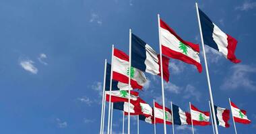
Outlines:
<svg viewBox="0 0 256 134"><path fill-rule="evenodd" d="M255 82L251 80L250 74L256 73L256 68L245 64L235 64L231 67L231 73L224 78L220 87L223 90L234 90L241 87L243 90L256 90Z"/></svg>

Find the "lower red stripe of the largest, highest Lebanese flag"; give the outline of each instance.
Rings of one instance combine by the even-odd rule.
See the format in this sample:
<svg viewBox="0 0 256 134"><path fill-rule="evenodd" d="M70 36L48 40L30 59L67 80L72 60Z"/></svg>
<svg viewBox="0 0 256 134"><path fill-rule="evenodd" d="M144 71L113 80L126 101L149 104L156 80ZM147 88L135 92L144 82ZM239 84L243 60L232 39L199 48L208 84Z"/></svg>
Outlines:
<svg viewBox="0 0 256 134"><path fill-rule="evenodd" d="M170 58L181 60L188 64L193 64L197 67L197 70L199 72L202 72L202 70L203 70L201 64L198 63L197 61L193 60L193 58L190 58L189 56L186 56L185 54L182 54L180 52L173 51L170 48L167 48L166 46L162 46L162 54L164 54Z"/></svg>

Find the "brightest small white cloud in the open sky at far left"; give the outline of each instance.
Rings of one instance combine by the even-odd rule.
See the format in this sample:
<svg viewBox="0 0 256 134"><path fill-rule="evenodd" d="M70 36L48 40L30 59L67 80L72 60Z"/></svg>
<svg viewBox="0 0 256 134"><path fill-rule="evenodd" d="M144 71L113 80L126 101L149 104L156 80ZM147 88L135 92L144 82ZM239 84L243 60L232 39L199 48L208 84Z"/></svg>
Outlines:
<svg viewBox="0 0 256 134"><path fill-rule="evenodd" d="M37 74L38 72L38 69L34 66L34 62L32 60L20 60L20 66L32 74Z"/></svg>

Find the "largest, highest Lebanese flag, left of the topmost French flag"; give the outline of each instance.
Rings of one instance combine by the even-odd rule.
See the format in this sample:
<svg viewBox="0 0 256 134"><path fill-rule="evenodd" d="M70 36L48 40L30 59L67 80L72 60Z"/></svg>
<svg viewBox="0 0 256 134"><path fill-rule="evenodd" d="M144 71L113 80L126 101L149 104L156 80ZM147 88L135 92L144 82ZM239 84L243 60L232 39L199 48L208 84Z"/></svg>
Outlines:
<svg viewBox="0 0 256 134"><path fill-rule="evenodd" d="M199 58L199 45L181 39L162 19L160 19L160 39L162 54L193 64L199 72L202 71Z"/></svg>

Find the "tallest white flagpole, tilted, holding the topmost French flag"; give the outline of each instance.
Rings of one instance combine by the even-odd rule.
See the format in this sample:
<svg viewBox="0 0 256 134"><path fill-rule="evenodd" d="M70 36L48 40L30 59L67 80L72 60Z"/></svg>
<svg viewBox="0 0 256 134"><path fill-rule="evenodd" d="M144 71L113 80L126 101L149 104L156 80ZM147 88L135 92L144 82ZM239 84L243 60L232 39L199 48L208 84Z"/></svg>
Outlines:
<svg viewBox="0 0 256 134"><path fill-rule="evenodd" d="M207 60L206 60L206 55L205 55L205 50L204 50L204 43L203 43L203 34L201 30L201 22L200 22L200 17L199 17L199 11L198 11L198 5L195 3L195 7L197 8L197 20L198 20L198 25L199 25L199 31L200 31L200 36L201 36L201 45L203 48L203 58L205 62L205 70L206 70L206 76L207 76L207 83L208 83L208 88L209 88L209 93L210 93L210 100L211 100L211 106L212 106L212 111L215 113L214 109L214 98L212 97L212 87L211 87L211 82L210 82L210 76L208 72L208 66L207 66ZM214 127L215 127L215 132L218 134L218 127L217 127L217 122L216 122L216 116L214 116Z"/></svg>

